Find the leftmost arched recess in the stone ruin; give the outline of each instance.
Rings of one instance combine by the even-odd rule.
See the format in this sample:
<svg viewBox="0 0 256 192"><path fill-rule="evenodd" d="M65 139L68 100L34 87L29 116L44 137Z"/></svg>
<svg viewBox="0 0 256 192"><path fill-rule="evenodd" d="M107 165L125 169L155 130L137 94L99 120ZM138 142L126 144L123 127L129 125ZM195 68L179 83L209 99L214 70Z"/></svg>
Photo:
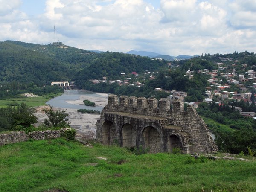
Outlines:
<svg viewBox="0 0 256 192"><path fill-rule="evenodd" d="M102 124L102 144L111 145L117 139L116 128L113 122L105 121Z"/></svg>

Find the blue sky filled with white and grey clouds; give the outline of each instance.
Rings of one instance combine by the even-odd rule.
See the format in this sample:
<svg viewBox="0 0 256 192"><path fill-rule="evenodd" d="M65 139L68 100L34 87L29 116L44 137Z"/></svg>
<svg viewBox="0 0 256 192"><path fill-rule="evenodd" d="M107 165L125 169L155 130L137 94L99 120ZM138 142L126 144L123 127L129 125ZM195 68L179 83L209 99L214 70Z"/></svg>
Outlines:
<svg viewBox="0 0 256 192"><path fill-rule="evenodd" d="M0 41L163 55L256 52L256 0L0 0Z"/></svg>

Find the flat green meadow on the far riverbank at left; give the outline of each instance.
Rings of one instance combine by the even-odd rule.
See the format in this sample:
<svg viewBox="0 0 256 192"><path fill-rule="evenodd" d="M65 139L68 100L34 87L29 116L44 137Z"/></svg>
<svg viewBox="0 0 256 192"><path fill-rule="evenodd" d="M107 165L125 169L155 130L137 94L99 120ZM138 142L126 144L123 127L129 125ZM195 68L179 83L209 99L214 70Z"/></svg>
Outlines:
<svg viewBox="0 0 256 192"><path fill-rule="evenodd" d="M9 98L0 100L0 107L6 107L7 104L11 104L14 102L17 103L26 103L28 106L36 107L41 105L46 105L45 103L52 99L53 97L60 96L62 93L58 94L50 94L46 96L38 96L38 97L24 97L24 98Z"/></svg>

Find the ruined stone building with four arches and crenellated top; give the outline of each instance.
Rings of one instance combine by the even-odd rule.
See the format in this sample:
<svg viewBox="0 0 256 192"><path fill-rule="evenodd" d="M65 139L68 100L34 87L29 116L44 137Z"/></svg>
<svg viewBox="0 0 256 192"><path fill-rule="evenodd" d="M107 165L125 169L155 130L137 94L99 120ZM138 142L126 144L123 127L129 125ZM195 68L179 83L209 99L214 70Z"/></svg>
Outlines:
<svg viewBox="0 0 256 192"><path fill-rule="evenodd" d="M141 146L151 153L210 153L217 151L207 125L195 108L184 110L181 99L108 96L96 123L96 139L104 145Z"/></svg>

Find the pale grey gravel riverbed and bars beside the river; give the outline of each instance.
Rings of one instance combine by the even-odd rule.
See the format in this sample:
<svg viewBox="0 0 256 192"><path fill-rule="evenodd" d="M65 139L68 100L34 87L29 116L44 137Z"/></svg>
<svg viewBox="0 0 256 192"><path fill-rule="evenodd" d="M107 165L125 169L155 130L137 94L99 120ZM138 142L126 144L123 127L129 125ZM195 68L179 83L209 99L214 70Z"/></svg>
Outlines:
<svg viewBox="0 0 256 192"><path fill-rule="evenodd" d="M73 105L84 105L83 100L87 99L92 102L95 102L96 106L104 107L108 104L108 94L106 93L95 93L99 95L99 97L91 96L91 95L81 95L79 99L75 100L65 100L65 102ZM47 118L43 109L47 106L38 106L36 107L37 112L35 116L38 118L38 123L35 126L38 126L44 123L44 119ZM53 107L55 111L64 110L68 113L68 119L70 121L70 125L72 128L76 129L78 134L82 134L85 136L96 137L96 122L100 118L100 114L84 114L77 112L77 109L73 108L56 108Z"/></svg>

